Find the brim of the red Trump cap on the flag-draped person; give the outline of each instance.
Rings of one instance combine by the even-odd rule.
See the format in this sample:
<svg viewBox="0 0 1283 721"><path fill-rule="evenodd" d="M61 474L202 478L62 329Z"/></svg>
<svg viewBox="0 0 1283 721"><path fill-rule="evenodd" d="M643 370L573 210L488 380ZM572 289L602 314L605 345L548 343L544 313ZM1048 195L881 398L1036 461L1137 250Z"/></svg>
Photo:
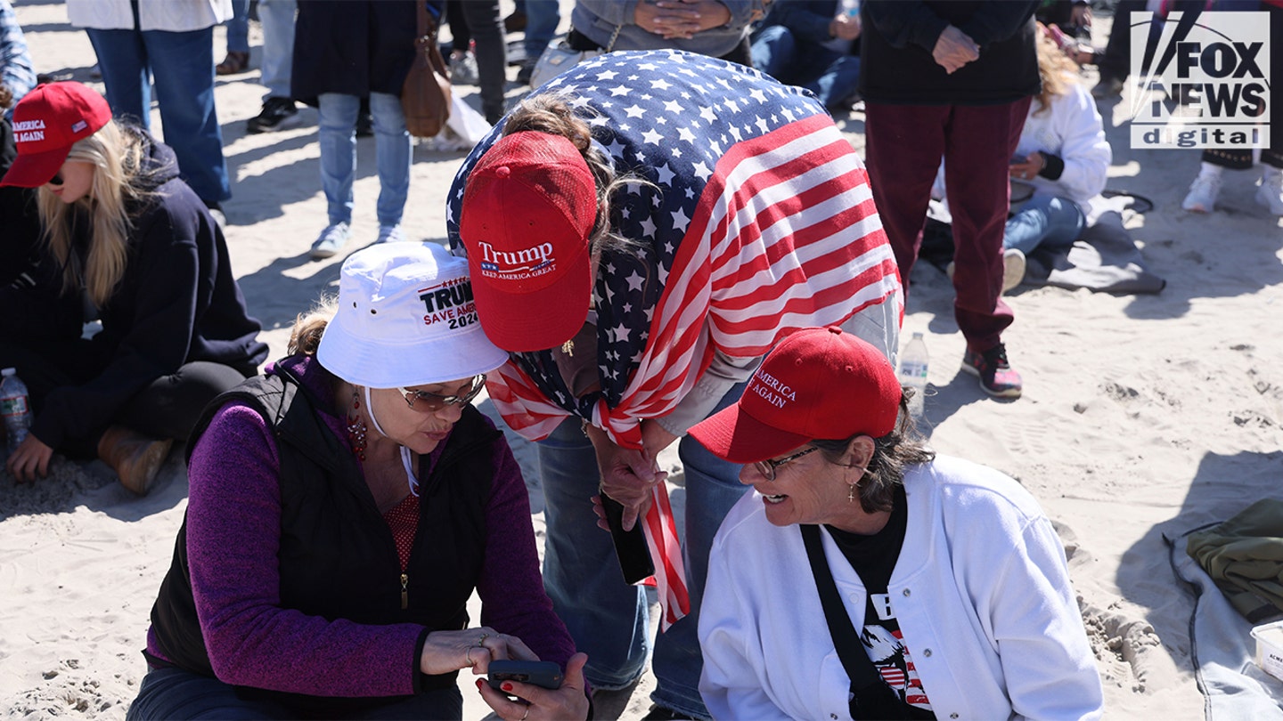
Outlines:
<svg viewBox="0 0 1283 721"><path fill-rule="evenodd" d="M481 330L490 343L509 353L532 353L557 348L584 327L593 293L588 244L559 281L527 293L503 293L486 282L479 257L468 253L468 275Z"/></svg>

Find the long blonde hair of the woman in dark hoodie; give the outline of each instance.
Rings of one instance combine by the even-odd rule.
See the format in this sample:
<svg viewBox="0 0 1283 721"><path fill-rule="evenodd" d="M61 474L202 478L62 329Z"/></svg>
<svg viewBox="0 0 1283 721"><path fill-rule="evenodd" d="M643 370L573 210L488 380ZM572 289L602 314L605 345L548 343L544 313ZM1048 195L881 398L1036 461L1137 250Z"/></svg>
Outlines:
<svg viewBox="0 0 1283 721"><path fill-rule="evenodd" d="M68 160L94 165L90 191L71 204L44 187L37 194L45 240L63 267L63 290L83 286L95 305L105 304L124 276L133 227L127 204L153 194L141 182L148 174L142 171L142 154L141 135L108 121L98 132L72 145L67 154ZM83 264L72 248L74 218L80 213L87 214L90 223Z"/></svg>

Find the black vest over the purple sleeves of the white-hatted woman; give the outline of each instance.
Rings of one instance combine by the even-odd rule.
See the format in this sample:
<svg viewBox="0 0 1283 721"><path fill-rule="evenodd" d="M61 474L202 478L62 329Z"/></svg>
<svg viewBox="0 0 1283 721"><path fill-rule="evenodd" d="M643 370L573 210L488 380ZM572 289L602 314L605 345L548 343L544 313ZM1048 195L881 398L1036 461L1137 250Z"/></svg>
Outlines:
<svg viewBox="0 0 1283 721"><path fill-rule="evenodd" d="M421 623L429 631L467 626L466 604L485 548L493 445L500 436L476 408L463 409L430 473L426 458L421 459L418 530L403 575L391 530L352 449L318 417L317 408L323 405L312 391L280 364L273 375L250 378L216 398L192 431L189 454L217 411L230 402L257 411L276 439L282 607L358 623ZM214 676L196 620L186 536L183 518L173 563L151 608L151 623L160 650L174 666ZM416 690L454 686L455 676L420 674ZM336 702L343 700L242 691L284 700L300 715L334 713ZM367 706L391 699L350 700Z"/></svg>

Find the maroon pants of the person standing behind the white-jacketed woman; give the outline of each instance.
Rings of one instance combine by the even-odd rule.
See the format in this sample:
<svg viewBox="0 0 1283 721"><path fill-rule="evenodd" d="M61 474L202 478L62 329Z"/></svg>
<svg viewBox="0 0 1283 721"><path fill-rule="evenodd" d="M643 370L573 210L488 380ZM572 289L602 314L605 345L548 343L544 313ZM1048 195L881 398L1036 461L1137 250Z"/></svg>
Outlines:
<svg viewBox="0 0 1283 721"><path fill-rule="evenodd" d="M1002 233L1011 187L1007 167L1029 113L1029 98L1007 105L865 104L869 182L899 276L908 277L922 245L935 171L953 214L953 316L967 348L983 353L1011 325L1002 301Z"/></svg>

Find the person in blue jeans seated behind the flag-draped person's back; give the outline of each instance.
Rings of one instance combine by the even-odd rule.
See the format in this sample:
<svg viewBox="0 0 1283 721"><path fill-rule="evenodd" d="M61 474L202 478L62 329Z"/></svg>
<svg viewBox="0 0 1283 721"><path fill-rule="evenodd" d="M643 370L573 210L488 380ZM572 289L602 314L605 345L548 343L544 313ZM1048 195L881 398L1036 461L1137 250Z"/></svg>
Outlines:
<svg viewBox="0 0 1283 721"><path fill-rule="evenodd" d="M860 85L860 15L851 0L779 0L753 32L753 67L849 110Z"/></svg>

